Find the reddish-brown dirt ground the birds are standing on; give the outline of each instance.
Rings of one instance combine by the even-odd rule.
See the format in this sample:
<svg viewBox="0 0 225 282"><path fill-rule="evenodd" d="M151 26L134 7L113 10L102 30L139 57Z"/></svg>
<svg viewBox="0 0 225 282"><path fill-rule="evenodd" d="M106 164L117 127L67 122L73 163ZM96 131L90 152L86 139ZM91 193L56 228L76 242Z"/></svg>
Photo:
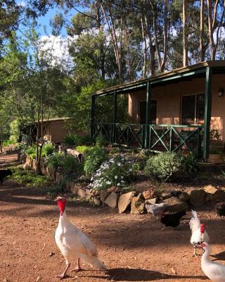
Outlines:
<svg viewBox="0 0 225 282"><path fill-rule="evenodd" d="M190 212L175 230L148 214L117 214L107 207L69 202L70 221L96 243L99 257L110 269L89 266L77 274L69 269L65 281L205 281L200 259L192 257ZM199 212L212 239L212 257L224 263L225 222L213 211ZM211 220L207 215L210 215ZM0 186L0 282L54 282L65 268L53 235L58 207L43 191L6 180ZM200 251L200 250L199 250ZM75 262L72 266L75 266Z"/></svg>

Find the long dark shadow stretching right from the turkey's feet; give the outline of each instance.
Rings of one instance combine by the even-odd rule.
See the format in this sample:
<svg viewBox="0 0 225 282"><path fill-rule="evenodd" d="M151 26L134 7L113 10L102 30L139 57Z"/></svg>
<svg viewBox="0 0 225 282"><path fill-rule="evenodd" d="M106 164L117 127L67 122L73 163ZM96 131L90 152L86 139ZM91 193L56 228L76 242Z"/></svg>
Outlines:
<svg viewBox="0 0 225 282"><path fill-rule="evenodd" d="M117 268L109 269L107 274L113 281L155 281L166 279L188 279L188 278L200 278L206 280L206 276L180 276L175 274L164 274L158 271L151 271L147 269L126 269ZM105 276L91 276L92 278L105 278Z"/></svg>

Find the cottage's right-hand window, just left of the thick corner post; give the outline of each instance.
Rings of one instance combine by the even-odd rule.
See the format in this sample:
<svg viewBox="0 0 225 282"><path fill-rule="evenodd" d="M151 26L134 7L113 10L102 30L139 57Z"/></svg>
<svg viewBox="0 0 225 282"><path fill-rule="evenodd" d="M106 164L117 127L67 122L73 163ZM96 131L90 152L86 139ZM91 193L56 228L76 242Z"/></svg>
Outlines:
<svg viewBox="0 0 225 282"><path fill-rule="evenodd" d="M204 123L205 95L189 95L182 97L181 123Z"/></svg>

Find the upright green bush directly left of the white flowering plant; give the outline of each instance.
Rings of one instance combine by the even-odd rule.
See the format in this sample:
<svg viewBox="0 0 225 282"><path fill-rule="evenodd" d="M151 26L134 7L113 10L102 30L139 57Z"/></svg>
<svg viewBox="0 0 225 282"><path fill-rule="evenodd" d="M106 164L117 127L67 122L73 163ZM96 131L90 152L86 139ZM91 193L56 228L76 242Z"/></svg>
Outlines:
<svg viewBox="0 0 225 282"><path fill-rule="evenodd" d="M88 152L86 152L84 159L84 171L86 175L91 176L91 174L95 173L106 159L107 156L103 148L91 147Z"/></svg>

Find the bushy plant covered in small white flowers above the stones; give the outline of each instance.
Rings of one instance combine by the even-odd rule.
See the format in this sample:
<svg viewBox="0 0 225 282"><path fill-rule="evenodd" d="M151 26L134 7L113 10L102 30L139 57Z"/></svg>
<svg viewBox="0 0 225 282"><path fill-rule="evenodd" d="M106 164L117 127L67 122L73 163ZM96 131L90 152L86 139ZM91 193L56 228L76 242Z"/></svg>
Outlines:
<svg viewBox="0 0 225 282"><path fill-rule="evenodd" d="M138 165L123 156L116 156L105 161L91 177L89 188L107 189L112 186L124 187L136 176Z"/></svg>

